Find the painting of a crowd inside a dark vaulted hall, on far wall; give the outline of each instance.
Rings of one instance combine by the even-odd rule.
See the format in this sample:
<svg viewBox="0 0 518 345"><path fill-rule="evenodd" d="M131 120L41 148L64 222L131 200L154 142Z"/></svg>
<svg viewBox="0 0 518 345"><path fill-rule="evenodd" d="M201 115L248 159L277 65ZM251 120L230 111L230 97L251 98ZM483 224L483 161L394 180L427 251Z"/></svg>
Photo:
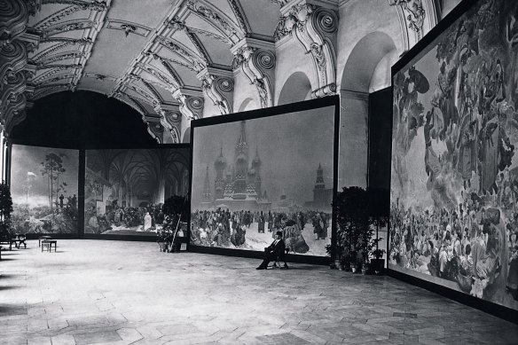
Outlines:
<svg viewBox="0 0 518 345"><path fill-rule="evenodd" d="M108 149L86 153L84 232L152 235L163 204L189 189L189 149Z"/></svg>

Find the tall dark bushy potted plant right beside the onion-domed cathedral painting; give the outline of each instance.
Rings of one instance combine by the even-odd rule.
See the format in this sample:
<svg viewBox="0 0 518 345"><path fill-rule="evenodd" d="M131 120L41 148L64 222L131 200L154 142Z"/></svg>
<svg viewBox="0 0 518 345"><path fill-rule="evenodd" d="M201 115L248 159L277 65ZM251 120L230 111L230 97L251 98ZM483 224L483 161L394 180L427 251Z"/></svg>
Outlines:
<svg viewBox="0 0 518 345"><path fill-rule="evenodd" d="M368 238L369 216L368 199L365 189L344 187L334 200L333 211L336 215L336 241L343 248L341 258L351 270L357 271L358 254L366 254L365 239ZM370 239L370 238L369 238Z"/></svg>

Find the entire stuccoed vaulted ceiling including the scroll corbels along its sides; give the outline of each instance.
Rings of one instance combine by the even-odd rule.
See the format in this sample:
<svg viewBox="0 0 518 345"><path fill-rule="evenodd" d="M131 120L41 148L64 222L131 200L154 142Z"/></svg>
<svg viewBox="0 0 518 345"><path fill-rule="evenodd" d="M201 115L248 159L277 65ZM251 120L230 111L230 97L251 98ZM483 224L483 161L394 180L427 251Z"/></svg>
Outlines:
<svg viewBox="0 0 518 345"><path fill-rule="evenodd" d="M392 13L402 28L419 38L439 0L383 1L397 8ZM188 122L204 115L207 106L219 114L234 111L239 70L255 85L261 106L273 106L276 42L288 37L312 59L313 97L333 94L337 10L348 3L2 0L0 122L9 133L37 99L90 90L136 109L160 142L164 137L180 142ZM432 14L425 16L425 9Z"/></svg>

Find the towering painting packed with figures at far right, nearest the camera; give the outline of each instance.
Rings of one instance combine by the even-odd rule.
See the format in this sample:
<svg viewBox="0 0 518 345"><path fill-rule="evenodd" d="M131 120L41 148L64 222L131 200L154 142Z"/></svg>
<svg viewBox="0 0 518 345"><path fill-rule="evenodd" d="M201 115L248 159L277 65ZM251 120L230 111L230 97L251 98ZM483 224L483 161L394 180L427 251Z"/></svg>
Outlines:
<svg viewBox="0 0 518 345"><path fill-rule="evenodd" d="M514 310L517 63L518 2L491 0L394 68L389 244L390 269Z"/></svg>

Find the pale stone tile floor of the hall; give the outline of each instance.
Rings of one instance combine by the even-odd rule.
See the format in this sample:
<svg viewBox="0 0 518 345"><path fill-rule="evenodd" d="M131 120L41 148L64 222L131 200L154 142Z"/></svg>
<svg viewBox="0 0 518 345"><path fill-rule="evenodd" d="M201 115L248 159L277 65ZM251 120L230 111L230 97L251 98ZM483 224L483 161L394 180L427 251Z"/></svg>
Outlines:
<svg viewBox="0 0 518 345"><path fill-rule="evenodd" d="M518 325L326 266L79 239L2 258L0 344L518 344Z"/></svg>

